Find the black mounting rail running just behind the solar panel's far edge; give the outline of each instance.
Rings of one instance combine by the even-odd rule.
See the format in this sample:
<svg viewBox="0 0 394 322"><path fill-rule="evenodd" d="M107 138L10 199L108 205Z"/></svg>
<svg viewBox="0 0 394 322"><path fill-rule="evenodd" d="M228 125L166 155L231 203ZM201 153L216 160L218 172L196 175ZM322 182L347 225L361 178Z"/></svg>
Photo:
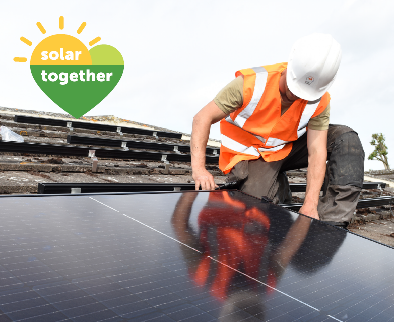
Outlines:
<svg viewBox="0 0 394 322"><path fill-rule="evenodd" d="M222 186L223 184L218 184ZM363 189L376 189L378 186L385 187L382 182L364 182ZM71 188L81 188L81 194L92 194L97 192L138 192L138 191L173 191L180 188L181 191L192 191L194 183L38 183L38 194L68 194ZM291 192L305 192L306 184L290 183Z"/></svg>

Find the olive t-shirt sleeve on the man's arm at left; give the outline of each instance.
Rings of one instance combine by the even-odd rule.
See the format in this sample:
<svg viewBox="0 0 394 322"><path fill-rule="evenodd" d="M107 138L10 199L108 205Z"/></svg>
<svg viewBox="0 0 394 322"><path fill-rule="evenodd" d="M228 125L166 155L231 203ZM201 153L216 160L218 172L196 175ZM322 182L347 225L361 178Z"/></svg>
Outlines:
<svg viewBox="0 0 394 322"><path fill-rule="evenodd" d="M214 102L227 115L240 108L243 104L243 77L238 76L223 87Z"/></svg>

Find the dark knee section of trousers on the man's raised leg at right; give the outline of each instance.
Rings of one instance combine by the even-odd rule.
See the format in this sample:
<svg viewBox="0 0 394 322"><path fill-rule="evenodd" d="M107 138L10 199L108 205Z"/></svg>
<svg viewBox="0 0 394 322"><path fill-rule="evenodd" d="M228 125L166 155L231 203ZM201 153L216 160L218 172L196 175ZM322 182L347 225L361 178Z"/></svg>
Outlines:
<svg viewBox="0 0 394 322"><path fill-rule="evenodd" d="M365 154L357 133L346 132L335 138L329 154L330 185L362 188Z"/></svg>

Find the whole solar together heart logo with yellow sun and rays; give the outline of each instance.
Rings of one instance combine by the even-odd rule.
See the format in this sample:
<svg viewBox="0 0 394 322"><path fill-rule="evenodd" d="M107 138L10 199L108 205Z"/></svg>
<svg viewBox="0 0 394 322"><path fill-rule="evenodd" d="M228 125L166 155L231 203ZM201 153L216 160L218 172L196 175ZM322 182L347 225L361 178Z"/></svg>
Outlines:
<svg viewBox="0 0 394 322"><path fill-rule="evenodd" d="M82 23L77 33L86 26ZM45 34L41 23L39 30ZM64 18L60 17L60 29ZM31 46L32 42L21 37ZM101 38L89 42L95 45ZM27 58L14 58L26 62ZM124 68L120 52L109 45L97 45L90 50L77 38L57 34L43 39L33 50L30 70L41 90L60 108L79 118L99 104L119 82Z"/></svg>

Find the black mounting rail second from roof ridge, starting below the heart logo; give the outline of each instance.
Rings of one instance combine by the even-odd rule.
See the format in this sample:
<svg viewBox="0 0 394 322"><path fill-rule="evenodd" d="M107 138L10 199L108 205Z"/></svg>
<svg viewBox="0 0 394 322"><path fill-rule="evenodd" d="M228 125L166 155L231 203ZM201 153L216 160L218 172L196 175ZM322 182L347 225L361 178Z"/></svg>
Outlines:
<svg viewBox="0 0 394 322"><path fill-rule="evenodd" d="M128 148L132 148L132 149L174 151L174 148L177 147L178 151L180 152L190 153L190 145L168 144L168 143L135 141L135 140L107 139L107 138L76 136L76 135L67 136L67 143L69 144L100 145L100 146L120 148L123 142L126 143L126 146ZM214 150L216 150L216 153L219 154L220 152L219 148L207 148L206 153L213 154Z"/></svg>

